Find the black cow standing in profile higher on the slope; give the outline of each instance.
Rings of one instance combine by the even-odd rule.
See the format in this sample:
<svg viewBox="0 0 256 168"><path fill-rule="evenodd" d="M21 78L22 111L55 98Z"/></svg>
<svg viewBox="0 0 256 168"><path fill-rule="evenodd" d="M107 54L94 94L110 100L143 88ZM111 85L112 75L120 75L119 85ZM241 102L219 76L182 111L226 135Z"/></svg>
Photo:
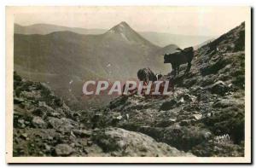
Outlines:
<svg viewBox="0 0 256 168"><path fill-rule="evenodd" d="M191 61L194 57L194 49L193 47L189 47L186 49L180 49L179 52L173 53L173 54L165 54L164 55L164 63L171 63L172 64L172 70L174 72L174 76L176 76L176 73L179 73L179 66L185 63L188 63L188 67L186 72L190 71L191 68Z"/></svg>

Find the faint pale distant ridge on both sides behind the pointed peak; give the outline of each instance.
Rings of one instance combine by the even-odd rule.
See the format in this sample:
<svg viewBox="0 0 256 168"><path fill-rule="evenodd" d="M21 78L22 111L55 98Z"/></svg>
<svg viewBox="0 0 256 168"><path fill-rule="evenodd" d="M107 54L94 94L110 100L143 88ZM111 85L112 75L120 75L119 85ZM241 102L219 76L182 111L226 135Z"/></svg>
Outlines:
<svg viewBox="0 0 256 168"><path fill-rule="evenodd" d="M70 31L79 34L103 34L108 32L106 29L85 29L79 27L67 27L67 26L55 26L50 24L34 24L32 26L20 26L15 24L15 33L18 34L42 34L46 35L51 32L62 32ZM151 43L158 45L160 47L165 47L170 43L175 43L181 48L195 46L203 43L209 39L215 37L206 36L189 36L189 35L177 35L165 32L138 32L143 38L147 39Z"/></svg>

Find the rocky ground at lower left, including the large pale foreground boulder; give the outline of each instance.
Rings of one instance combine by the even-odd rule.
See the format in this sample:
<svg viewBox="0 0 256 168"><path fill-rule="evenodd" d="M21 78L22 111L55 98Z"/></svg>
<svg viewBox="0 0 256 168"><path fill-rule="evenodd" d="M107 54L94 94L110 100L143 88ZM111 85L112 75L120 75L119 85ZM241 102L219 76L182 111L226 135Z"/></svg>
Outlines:
<svg viewBox="0 0 256 168"><path fill-rule="evenodd" d="M14 156L193 156L152 137L108 125L92 128L46 84L14 76Z"/></svg>

